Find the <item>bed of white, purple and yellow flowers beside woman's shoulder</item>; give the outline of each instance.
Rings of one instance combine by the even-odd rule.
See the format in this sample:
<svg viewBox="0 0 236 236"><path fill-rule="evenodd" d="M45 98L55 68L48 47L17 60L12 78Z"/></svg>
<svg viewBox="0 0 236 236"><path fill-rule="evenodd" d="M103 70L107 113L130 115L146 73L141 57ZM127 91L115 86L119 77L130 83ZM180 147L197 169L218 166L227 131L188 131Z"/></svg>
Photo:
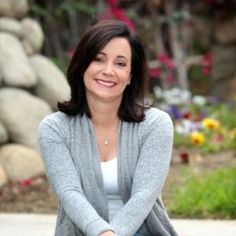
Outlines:
<svg viewBox="0 0 236 236"><path fill-rule="evenodd" d="M156 87L154 94L156 105L173 119L175 147L194 147L200 153L236 149L235 101L229 106L178 88Z"/></svg>

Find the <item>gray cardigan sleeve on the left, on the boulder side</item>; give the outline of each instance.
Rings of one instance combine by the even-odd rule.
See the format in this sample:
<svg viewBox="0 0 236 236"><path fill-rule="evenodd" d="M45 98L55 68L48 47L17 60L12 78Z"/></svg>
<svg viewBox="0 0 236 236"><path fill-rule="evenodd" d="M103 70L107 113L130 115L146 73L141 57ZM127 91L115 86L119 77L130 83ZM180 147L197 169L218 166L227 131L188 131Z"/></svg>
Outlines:
<svg viewBox="0 0 236 236"><path fill-rule="evenodd" d="M48 119L41 122L39 144L48 180L66 214L85 235L114 231L87 201L65 138L57 126Z"/></svg>

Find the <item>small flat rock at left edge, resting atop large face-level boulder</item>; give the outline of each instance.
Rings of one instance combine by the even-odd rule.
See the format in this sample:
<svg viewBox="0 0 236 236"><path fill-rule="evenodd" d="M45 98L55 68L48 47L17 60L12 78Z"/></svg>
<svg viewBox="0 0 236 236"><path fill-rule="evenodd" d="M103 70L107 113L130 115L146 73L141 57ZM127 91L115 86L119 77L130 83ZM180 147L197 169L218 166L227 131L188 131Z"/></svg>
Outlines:
<svg viewBox="0 0 236 236"><path fill-rule="evenodd" d="M19 38L22 37L21 23L15 19L12 19L12 18L8 18L8 17L1 17L0 18L0 31L14 34L15 36L17 36Z"/></svg>

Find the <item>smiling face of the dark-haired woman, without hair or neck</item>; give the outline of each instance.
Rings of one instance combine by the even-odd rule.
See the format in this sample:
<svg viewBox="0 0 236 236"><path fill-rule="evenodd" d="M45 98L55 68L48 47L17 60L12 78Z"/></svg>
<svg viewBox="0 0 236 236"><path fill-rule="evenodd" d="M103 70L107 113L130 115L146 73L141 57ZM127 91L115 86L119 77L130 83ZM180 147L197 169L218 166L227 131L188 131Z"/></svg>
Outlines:
<svg viewBox="0 0 236 236"><path fill-rule="evenodd" d="M84 73L88 99L121 101L131 79L131 47L125 38L109 41Z"/></svg>

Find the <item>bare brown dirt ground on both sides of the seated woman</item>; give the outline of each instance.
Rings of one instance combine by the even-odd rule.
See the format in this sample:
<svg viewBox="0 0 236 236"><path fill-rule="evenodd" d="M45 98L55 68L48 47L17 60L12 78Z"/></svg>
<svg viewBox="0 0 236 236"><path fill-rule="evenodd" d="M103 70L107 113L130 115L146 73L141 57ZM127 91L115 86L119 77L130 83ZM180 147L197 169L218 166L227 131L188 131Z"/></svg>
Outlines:
<svg viewBox="0 0 236 236"><path fill-rule="evenodd" d="M171 198L172 186L181 182L180 173L183 166L194 171L205 172L224 166L236 167L236 153L222 152L202 156L190 152L189 163L184 164L179 158L183 150L175 150L169 175L164 187L164 202ZM56 213L57 200L51 191L45 176L20 183L9 183L0 189L0 212Z"/></svg>

